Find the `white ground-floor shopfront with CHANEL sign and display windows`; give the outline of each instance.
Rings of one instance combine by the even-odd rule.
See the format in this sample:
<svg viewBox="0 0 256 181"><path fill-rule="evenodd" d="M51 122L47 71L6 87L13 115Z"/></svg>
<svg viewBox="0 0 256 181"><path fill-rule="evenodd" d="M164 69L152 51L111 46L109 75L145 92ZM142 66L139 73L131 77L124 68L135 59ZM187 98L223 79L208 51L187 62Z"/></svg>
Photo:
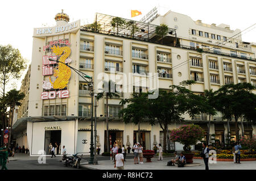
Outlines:
<svg viewBox="0 0 256 181"><path fill-rule="evenodd" d="M174 123L169 125L169 130L179 128L181 125L191 123ZM207 123L195 123L200 125L207 133ZM230 130L233 132L233 124L230 124ZM141 144L144 149L152 150L154 145L159 143L163 145L163 131L158 124L150 125L147 122L141 123ZM240 134L241 125L239 124ZM90 120L79 120L77 118L68 120L47 120L44 121L27 121L27 146L31 155L50 154L50 145L55 146L55 154L61 154L63 145L67 149L68 154L89 154L90 136L91 136ZM251 137L255 134L256 127L244 125L245 134ZM227 134L226 123L211 123L210 134L215 134L216 139L220 143L225 142ZM15 132L19 135L20 133ZM93 133L94 134L94 133ZM234 133L233 133L234 134ZM106 137L106 123L103 119L97 121L97 142L96 148L100 149L100 153L106 151L106 143L109 141L113 146L116 141L118 146L125 145L132 148L134 142L138 142L138 125L133 123L125 124L119 120L109 121L109 139ZM206 139L206 134L205 138ZM172 150L183 150L183 145L171 142ZM194 146L192 146L194 149Z"/></svg>

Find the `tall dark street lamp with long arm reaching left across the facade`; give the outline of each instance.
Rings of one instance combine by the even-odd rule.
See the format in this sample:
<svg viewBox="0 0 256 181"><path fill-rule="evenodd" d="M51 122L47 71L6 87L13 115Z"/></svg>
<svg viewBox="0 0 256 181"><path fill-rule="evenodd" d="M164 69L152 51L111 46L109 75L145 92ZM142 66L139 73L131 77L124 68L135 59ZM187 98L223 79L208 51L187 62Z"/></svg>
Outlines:
<svg viewBox="0 0 256 181"><path fill-rule="evenodd" d="M57 58L59 59L59 58ZM86 82L88 82L88 86L90 87L90 95L92 96L92 106L91 106L91 128L90 128L90 159L89 159L89 164L93 164L93 77L90 77L89 75L85 74L85 73L82 73L81 71L75 69L75 68L72 68L72 66L69 66L68 63L65 64L64 62L61 62L59 60L53 60L52 58L49 58L50 61L55 61L55 62L58 62L58 63L61 63L61 64L64 64L66 66L68 66L69 68L71 68L72 70L74 70L77 74L79 74L80 77L82 77ZM89 79L90 81L88 81L87 79Z"/></svg>

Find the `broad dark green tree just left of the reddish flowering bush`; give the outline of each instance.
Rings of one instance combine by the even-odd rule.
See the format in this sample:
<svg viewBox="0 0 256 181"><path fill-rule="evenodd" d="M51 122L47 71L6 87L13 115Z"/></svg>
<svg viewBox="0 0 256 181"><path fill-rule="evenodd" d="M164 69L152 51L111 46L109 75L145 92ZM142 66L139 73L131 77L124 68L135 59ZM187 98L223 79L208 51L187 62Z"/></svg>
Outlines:
<svg viewBox="0 0 256 181"><path fill-rule="evenodd" d="M166 152L166 142L170 142L168 124L183 121L183 114L194 116L203 111L203 98L193 94L185 86L192 85L195 81L183 81L180 85L172 85L169 91L159 91L156 99L150 99L151 124L159 123L163 130L163 149ZM167 141L166 141L167 139ZM170 147L170 146L168 146ZM169 148L170 149L170 148Z"/></svg>

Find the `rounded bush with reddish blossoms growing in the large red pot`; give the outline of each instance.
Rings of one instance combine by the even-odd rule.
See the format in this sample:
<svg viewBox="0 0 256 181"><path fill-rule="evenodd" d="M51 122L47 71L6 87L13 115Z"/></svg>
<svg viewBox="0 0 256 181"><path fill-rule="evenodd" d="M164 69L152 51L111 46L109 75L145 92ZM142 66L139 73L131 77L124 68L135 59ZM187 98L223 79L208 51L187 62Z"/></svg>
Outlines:
<svg viewBox="0 0 256 181"><path fill-rule="evenodd" d="M191 146L204 137L204 130L199 125L183 125L178 129L172 129L170 140L183 144L184 151L190 151Z"/></svg>

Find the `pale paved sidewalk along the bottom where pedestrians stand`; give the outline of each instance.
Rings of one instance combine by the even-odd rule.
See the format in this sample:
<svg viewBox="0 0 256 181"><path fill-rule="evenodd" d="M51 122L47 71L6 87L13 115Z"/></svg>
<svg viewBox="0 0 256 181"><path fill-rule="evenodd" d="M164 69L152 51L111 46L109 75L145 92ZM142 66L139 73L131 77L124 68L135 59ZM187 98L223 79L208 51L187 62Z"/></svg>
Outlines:
<svg viewBox="0 0 256 181"><path fill-rule="evenodd" d="M151 163L145 162L143 164L134 164L134 159L126 159L125 170L205 170L203 159L193 159L193 165L186 165L185 167L167 166L167 162L171 159L163 158L163 161L158 161L158 158L152 158ZM197 163L197 164L195 164ZM81 167L92 170L116 170L113 161L98 161L98 165L81 164ZM233 162L217 162L209 164L210 170L256 170L256 161L241 162L241 164L234 164Z"/></svg>

